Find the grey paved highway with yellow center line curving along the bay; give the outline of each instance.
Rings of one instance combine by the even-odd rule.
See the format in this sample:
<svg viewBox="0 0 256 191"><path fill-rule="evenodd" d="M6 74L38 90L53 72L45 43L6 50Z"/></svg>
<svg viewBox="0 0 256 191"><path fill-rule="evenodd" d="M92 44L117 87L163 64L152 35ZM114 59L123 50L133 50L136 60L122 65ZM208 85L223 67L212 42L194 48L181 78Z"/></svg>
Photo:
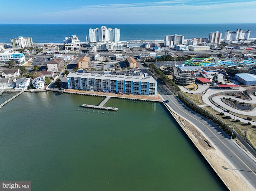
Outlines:
<svg viewBox="0 0 256 191"><path fill-rule="evenodd" d="M150 75L153 75L147 69L141 69ZM166 88L158 79L158 93L170 102L168 105L180 116L192 124L196 124L200 132L205 136L208 142L228 161L232 169L236 170L240 177L253 189L256 190L256 160L245 152L235 140L230 140L220 128L210 120L207 120L200 114L187 108L178 98ZM226 167L223 167L227 169Z"/></svg>

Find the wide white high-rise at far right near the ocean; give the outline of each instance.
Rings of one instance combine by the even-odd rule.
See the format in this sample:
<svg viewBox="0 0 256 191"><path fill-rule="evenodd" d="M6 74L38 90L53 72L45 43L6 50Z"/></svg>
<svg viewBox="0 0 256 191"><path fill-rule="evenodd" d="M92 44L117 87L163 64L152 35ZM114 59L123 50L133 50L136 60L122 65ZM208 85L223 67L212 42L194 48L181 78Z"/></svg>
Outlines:
<svg viewBox="0 0 256 191"><path fill-rule="evenodd" d="M227 30L225 32L224 36L224 42L225 43L230 43L232 41L238 41L239 39L249 39L250 37L251 30L248 31L243 31L242 29L237 29L236 31L229 31Z"/></svg>

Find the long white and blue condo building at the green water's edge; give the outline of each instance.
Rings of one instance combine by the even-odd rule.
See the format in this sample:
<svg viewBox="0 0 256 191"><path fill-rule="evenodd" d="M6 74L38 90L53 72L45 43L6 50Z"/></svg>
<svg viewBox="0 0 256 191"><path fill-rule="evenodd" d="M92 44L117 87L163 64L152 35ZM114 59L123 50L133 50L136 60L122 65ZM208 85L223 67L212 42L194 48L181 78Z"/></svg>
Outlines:
<svg viewBox="0 0 256 191"><path fill-rule="evenodd" d="M68 88L110 92L124 92L130 94L156 95L157 82L153 77L109 75L95 73L70 72L68 74Z"/></svg>

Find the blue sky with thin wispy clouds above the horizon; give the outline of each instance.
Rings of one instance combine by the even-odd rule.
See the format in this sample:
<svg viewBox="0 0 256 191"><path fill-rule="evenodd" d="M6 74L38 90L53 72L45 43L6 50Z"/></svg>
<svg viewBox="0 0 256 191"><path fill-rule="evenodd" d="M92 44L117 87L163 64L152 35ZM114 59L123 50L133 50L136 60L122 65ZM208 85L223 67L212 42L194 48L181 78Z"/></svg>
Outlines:
<svg viewBox="0 0 256 191"><path fill-rule="evenodd" d="M0 24L256 23L256 0L0 0Z"/></svg>

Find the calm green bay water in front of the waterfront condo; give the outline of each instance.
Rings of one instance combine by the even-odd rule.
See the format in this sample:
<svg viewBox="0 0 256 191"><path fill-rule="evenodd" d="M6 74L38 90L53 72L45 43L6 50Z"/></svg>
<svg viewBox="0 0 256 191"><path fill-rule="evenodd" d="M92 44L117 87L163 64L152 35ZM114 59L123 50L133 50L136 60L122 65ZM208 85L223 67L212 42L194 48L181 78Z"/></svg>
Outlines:
<svg viewBox="0 0 256 191"><path fill-rule="evenodd" d="M10 96L0 96L3 102ZM224 190L162 104L22 93L0 109L0 179L36 191ZM79 111L78 111L79 108Z"/></svg>

